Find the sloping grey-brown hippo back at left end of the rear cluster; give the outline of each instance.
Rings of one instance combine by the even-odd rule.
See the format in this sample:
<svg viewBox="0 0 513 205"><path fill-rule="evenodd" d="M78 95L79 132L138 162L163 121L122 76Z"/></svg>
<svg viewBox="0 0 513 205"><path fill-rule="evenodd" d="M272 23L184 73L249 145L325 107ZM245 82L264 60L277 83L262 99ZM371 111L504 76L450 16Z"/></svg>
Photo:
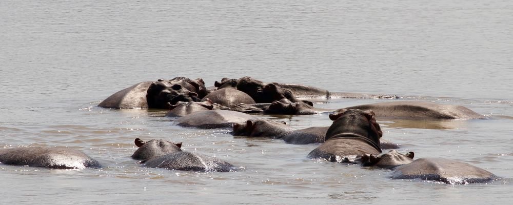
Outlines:
<svg viewBox="0 0 513 205"><path fill-rule="evenodd" d="M98 107L115 109L148 108L146 91L153 81L142 81L107 97Z"/></svg>

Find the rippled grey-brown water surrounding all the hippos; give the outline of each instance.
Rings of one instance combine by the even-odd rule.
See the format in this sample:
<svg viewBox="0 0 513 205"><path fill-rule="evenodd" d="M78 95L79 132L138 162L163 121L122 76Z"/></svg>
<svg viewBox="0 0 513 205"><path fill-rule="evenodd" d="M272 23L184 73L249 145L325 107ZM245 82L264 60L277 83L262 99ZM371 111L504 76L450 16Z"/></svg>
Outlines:
<svg viewBox="0 0 513 205"><path fill-rule="evenodd" d="M513 177L510 1L2 1L0 145L71 147L105 168L0 166L0 203L499 204ZM451 186L309 160L317 145L172 125L164 112L96 105L139 81L222 77L463 105L489 120L380 120L416 158L501 179ZM341 108L385 99L334 99ZM268 116L266 116L268 117ZM274 116L297 128L326 115ZM183 141L241 171L147 169L135 138Z"/></svg>

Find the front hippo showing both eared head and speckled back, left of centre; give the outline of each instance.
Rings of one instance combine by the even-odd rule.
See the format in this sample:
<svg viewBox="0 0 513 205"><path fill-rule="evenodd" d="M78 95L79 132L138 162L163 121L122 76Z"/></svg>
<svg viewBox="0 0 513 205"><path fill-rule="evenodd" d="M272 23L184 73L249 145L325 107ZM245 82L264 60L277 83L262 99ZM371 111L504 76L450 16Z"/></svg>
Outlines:
<svg viewBox="0 0 513 205"><path fill-rule="evenodd" d="M183 151L182 142L174 144L162 139L143 141L136 138L134 143L139 148L132 158L140 159L145 167L194 172L235 171L233 165L219 158Z"/></svg>

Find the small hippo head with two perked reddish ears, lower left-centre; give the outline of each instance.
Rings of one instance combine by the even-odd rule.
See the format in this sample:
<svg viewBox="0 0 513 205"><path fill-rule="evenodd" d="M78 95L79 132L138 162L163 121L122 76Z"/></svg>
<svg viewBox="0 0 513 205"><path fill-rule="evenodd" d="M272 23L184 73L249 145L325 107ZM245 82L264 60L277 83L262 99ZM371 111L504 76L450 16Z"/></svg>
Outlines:
<svg viewBox="0 0 513 205"><path fill-rule="evenodd" d="M143 141L136 138L134 143L139 148L132 154L133 159L143 160L182 151L182 149L180 149L182 147L182 142L174 144L173 142L162 139Z"/></svg>

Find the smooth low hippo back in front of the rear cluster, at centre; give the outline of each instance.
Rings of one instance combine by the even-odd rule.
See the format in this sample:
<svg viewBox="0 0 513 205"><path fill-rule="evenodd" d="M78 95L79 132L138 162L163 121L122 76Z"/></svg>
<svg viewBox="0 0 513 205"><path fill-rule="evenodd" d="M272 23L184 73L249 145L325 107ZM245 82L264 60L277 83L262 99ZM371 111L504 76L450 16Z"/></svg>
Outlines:
<svg viewBox="0 0 513 205"><path fill-rule="evenodd" d="M194 112L174 120L174 125L203 129L231 128L236 123L256 120L257 117L230 110L206 110Z"/></svg>

